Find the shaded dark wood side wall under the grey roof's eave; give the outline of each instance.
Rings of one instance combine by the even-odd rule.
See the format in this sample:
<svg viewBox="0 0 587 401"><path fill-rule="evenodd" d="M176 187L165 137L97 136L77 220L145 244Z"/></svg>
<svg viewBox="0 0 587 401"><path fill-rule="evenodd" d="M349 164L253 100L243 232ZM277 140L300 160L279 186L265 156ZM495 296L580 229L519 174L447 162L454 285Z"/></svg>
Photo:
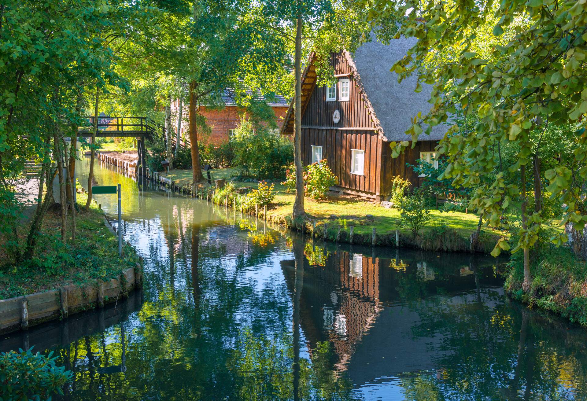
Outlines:
<svg viewBox="0 0 587 401"><path fill-rule="evenodd" d="M396 159L392 158L392 148L389 142L382 143L382 159L381 159L381 193L387 195L391 191L391 181L395 176L402 176L410 181L413 187L420 186L422 178L411 168L406 166L406 163L416 166L416 160L420 159L421 151L434 151L436 141L419 141L416 147L411 149L410 146L404 150Z"/></svg>

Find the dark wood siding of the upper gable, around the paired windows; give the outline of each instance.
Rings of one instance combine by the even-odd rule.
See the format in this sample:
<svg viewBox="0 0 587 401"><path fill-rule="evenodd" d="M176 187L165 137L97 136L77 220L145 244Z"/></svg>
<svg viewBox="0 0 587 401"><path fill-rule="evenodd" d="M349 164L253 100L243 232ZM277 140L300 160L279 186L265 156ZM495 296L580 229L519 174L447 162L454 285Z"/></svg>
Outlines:
<svg viewBox="0 0 587 401"><path fill-rule="evenodd" d="M338 79L350 79L349 100L343 102L338 100L340 96L340 85L338 84L334 102L326 102L326 86L315 86L302 116L302 126L374 129L375 124L371 120L367 103L360 93L360 87L350 75L351 69L348 60L339 53L330 59L330 63L334 68L335 75L349 74L349 76L337 77ZM332 114L335 110L340 112L340 121L336 124L332 121Z"/></svg>

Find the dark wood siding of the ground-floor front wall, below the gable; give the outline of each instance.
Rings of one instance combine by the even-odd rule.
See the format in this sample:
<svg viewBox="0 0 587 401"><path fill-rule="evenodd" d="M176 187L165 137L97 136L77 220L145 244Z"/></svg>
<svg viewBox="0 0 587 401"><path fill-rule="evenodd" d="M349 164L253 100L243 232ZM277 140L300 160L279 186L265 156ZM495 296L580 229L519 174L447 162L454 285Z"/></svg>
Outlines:
<svg viewBox="0 0 587 401"><path fill-rule="evenodd" d="M322 157L339 178L339 186L365 193L377 191L382 140L373 131L302 128L302 161L312 162L312 146L322 146ZM365 151L363 176L350 173L351 149Z"/></svg>

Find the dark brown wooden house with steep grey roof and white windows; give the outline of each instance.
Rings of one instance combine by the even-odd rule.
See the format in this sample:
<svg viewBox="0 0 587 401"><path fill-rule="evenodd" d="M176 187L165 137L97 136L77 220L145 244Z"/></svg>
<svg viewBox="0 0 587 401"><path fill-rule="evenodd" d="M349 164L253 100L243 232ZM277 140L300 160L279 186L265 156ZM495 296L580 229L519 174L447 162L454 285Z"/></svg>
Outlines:
<svg viewBox="0 0 587 401"><path fill-rule="evenodd" d="M411 141L405 134L411 119L431 108L430 85L423 84L416 93L416 76L398 83L397 74L390 71L414 41L402 37L383 45L374 39L355 55L346 50L334 54L330 63L337 82L330 87L316 85L315 56L311 56L302 75L302 162L328 160L339 179L332 190L382 201L390 195L394 176L419 186L421 177L406 163L415 166L418 159L436 163L434 147L446 125L434 126L430 135L421 134L416 147L408 147L396 159L390 147L392 141ZM294 134L293 105L292 100L282 134Z"/></svg>

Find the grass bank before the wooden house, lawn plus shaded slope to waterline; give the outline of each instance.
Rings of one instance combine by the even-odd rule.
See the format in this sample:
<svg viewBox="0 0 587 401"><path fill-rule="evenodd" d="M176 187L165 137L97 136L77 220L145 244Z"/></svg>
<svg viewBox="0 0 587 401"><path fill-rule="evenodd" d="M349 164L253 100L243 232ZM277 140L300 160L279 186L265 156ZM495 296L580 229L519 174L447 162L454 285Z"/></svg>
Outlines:
<svg viewBox="0 0 587 401"><path fill-rule="evenodd" d="M233 169L212 171L212 178L225 178L227 181L237 176ZM172 170L164 175L174 185L183 187L192 182L191 170ZM235 187L257 187L257 183L233 181ZM275 200L269 205L267 219L274 223L292 226L291 211L294 194L286 193L281 183L275 184ZM394 208L385 208L375 201L366 200L348 194L330 194L325 200L315 201L305 198L306 213L316 220L316 235L350 242L350 227L353 227L353 243L372 244L373 228L376 230L376 244L396 245L396 230L400 231L400 245L423 248L431 251L469 251L469 236L477 229L479 217L473 213L441 212L431 210L431 220L421 232L420 238L414 238L409 229L403 227L400 212ZM372 218L367 218L372 215ZM326 232L324 228L326 227ZM340 227L340 232L339 232ZM299 227L301 229L301 227ZM312 232L313 225L306 223L303 230ZM482 228L477 250L491 252L498 237L507 237L507 232Z"/></svg>

